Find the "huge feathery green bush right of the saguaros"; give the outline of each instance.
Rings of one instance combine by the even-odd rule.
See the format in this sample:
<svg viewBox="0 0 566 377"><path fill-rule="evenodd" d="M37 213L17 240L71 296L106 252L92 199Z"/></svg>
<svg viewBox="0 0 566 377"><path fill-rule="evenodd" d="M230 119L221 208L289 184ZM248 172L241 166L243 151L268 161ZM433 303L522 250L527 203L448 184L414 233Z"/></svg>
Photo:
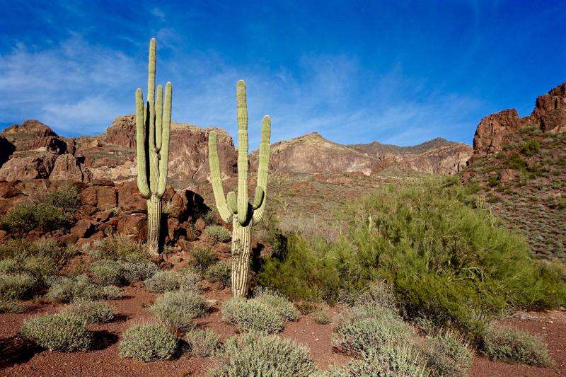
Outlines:
<svg viewBox="0 0 566 377"><path fill-rule="evenodd" d="M291 235L286 253L265 260L260 284L335 301L385 279L405 315L453 323L476 342L487 320L509 309L566 303L561 270L533 260L526 242L475 202L454 181L381 187L345 216L341 238Z"/></svg>

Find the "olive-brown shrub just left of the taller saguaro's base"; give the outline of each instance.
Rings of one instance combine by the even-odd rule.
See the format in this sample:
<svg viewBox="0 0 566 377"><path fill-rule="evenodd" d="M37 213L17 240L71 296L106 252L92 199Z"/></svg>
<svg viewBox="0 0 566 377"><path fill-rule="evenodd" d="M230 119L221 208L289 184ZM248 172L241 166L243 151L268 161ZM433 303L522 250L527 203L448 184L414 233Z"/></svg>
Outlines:
<svg viewBox="0 0 566 377"><path fill-rule="evenodd" d="M94 260L127 260L138 262L149 260L150 255L147 248L139 242L127 236L115 235L105 237L90 243L85 248L86 253Z"/></svg>

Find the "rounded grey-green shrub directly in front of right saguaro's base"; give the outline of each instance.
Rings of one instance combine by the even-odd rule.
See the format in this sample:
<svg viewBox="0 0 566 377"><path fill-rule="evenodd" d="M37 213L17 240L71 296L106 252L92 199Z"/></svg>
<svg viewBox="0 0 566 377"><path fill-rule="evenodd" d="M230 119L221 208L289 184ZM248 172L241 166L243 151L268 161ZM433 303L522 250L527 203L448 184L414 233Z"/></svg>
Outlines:
<svg viewBox="0 0 566 377"><path fill-rule="evenodd" d="M222 306L222 317L241 331L271 334L283 330L283 320L270 306L255 300L234 297Z"/></svg>

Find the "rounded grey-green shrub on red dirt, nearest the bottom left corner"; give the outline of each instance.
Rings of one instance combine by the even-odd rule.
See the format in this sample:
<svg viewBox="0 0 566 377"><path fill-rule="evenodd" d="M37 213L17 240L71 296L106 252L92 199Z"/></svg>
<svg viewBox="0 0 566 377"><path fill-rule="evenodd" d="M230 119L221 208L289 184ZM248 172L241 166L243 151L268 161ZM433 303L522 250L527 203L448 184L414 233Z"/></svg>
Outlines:
<svg viewBox="0 0 566 377"><path fill-rule="evenodd" d="M40 347L61 352L83 351L91 346L93 340L81 318L61 314L26 320L20 333Z"/></svg>

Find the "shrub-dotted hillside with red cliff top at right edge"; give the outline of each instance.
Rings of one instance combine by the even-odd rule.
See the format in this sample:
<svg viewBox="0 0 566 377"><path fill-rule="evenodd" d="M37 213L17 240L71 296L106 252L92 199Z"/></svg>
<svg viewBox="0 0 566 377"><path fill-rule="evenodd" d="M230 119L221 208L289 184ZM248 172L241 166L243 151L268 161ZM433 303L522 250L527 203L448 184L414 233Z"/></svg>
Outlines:
<svg viewBox="0 0 566 377"><path fill-rule="evenodd" d="M566 83L536 100L532 114L489 115L478 124L463 182L543 258L566 259Z"/></svg>

